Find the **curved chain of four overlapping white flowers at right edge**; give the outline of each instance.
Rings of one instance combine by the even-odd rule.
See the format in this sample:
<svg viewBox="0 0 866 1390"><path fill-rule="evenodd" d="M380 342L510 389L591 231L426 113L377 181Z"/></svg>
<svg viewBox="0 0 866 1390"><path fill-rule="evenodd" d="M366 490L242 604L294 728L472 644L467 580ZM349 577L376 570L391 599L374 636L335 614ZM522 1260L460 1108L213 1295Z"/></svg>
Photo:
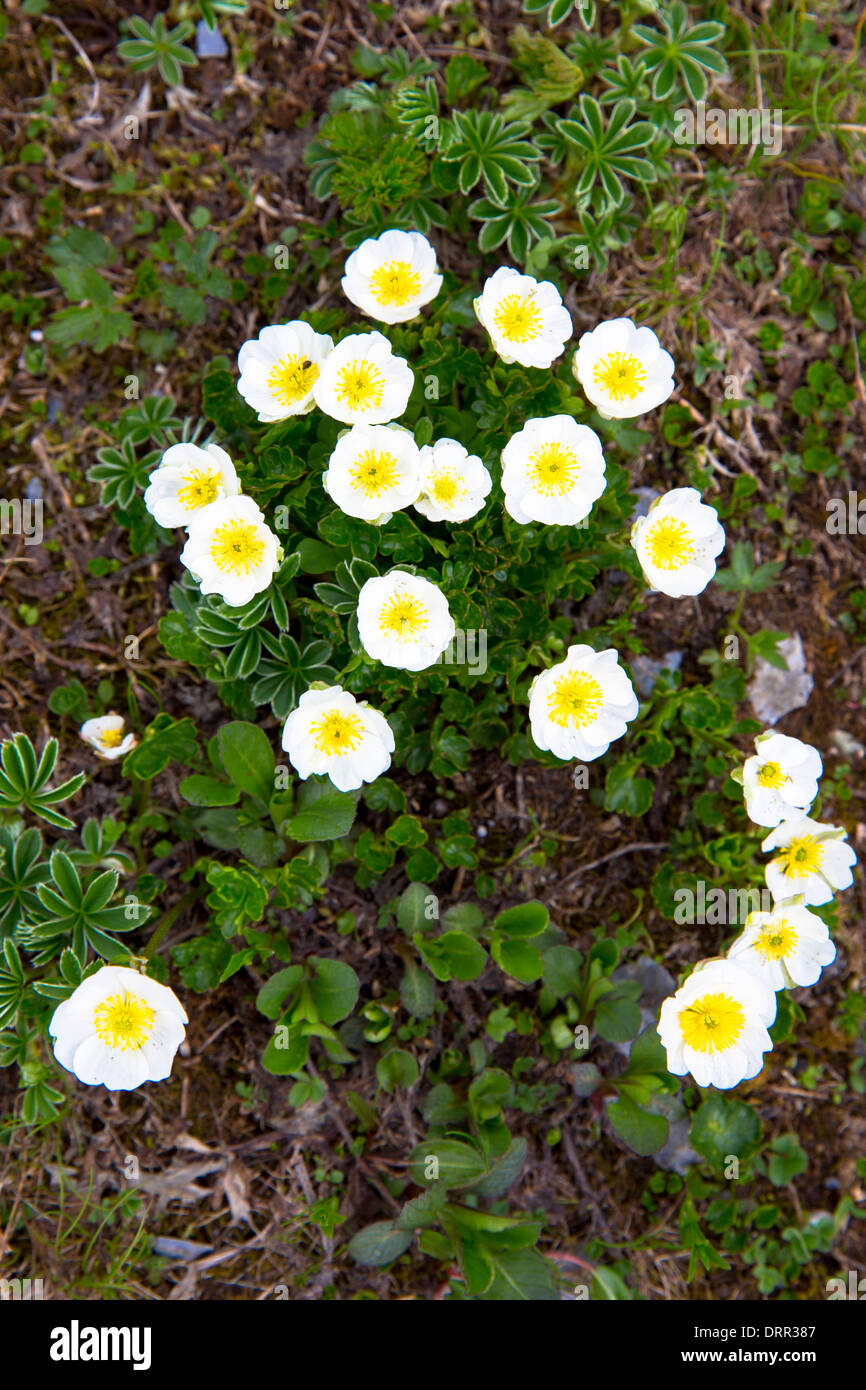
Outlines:
<svg viewBox="0 0 866 1390"><path fill-rule="evenodd" d="M835 959L827 924L812 906L853 883L847 831L809 819L823 763L817 749L767 730L733 776L751 820L773 827L762 848L771 912L751 912L727 956L702 960L662 1005L659 1037L674 1076L727 1090L758 1076L773 1047L776 991L815 984Z"/></svg>

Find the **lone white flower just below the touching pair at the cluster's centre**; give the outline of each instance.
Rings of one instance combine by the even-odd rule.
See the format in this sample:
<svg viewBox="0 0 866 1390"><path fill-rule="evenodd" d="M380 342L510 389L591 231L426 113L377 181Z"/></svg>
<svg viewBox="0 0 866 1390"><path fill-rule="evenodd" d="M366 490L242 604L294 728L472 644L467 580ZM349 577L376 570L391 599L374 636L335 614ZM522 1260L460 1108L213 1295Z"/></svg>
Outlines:
<svg viewBox="0 0 866 1390"><path fill-rule="evenodd" d="M456 632L442 591L405 570L367 580L357 596L357 630L367 656L405 671L432 666Z"/></svg>

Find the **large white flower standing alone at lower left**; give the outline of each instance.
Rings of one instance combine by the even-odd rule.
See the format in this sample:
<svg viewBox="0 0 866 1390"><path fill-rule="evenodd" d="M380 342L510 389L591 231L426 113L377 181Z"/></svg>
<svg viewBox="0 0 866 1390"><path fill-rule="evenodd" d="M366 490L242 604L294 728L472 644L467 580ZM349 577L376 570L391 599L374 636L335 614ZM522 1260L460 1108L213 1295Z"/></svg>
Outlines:
<svg viewBox="0 0 866 1390"><path fill-rule="evenodd" d="M132 1091L164 1081L188 1022L181 1001L138 970L107 965L54 1009L54 1056L85 1086Z"/></svg>

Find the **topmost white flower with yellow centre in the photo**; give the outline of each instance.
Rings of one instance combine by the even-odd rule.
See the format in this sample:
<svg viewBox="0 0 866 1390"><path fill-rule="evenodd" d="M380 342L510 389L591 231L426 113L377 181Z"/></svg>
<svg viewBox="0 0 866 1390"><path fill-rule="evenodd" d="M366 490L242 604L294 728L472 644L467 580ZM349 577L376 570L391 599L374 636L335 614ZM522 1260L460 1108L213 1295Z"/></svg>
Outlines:
<svg viewBox="0 0 866 1390"><path fill-rule="evenodd" d="M352 252L341 281L343 295L382 324L405 324L442 289L436 253L420 232L391 229Z"/></svg>

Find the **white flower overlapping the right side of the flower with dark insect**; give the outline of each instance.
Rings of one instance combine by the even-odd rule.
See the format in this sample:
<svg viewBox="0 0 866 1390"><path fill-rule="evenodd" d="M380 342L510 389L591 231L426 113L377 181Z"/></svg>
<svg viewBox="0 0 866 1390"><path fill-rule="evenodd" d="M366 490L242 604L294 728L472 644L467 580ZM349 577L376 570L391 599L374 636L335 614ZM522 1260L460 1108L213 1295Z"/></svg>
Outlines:
<svg viewBox="0 0 866 1390"><path fill-rule="evenodd" d="M316 382L316 404L343 424L385 425L402 416L414 375L382 334L350 334L336 345Z"/></svg>

